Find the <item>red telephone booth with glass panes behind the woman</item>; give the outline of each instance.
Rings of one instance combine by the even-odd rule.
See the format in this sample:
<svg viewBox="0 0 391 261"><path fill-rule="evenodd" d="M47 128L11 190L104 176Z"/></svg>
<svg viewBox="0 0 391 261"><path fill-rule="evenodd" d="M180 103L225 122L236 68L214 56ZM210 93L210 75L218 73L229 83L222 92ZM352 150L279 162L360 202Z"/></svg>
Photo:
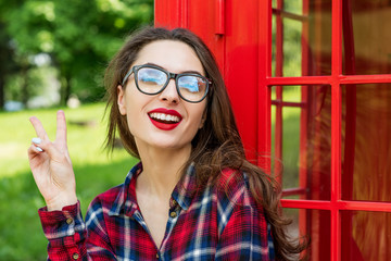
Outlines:
<svg viewBox="0 0 391 261"><path fill-rule="evenodd" d="M156 26L214 51L311 260L391 260L390 17L390 0L155 0Z"/></svg>

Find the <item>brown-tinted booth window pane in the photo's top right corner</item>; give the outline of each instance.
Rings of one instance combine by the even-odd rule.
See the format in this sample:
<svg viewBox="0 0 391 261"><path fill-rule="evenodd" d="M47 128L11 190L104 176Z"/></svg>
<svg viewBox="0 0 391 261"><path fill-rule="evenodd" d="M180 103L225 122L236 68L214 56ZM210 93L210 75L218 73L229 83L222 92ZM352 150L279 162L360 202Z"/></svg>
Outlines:
<svg viewBox="0 0 391 261"><path fill-rule="evenodd" d="M343 74L391 73L391 1L342 1Z"/></svg>

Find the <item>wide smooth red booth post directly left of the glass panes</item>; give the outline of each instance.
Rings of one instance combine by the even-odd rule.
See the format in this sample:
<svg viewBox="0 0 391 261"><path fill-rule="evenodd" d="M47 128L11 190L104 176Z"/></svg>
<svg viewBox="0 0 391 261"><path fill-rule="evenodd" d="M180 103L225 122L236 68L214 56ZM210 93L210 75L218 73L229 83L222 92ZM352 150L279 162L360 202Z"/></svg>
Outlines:
<svg viewBox="0 0 391 261"><path fill-rule="evenodd" d="M257 85L258 78L258 1L226 1L226 64L225 78L236 113L239 132L245 144L247 156L256 161L258 153L257 120L260 99L263 88ZM229 16L228 16L229 15ZM245 20L243 20L245 17ZM252 28L252 34L243 28ZM245 105L243 105L245 101ZM258 152L258 153L257 153Z"/></svg>

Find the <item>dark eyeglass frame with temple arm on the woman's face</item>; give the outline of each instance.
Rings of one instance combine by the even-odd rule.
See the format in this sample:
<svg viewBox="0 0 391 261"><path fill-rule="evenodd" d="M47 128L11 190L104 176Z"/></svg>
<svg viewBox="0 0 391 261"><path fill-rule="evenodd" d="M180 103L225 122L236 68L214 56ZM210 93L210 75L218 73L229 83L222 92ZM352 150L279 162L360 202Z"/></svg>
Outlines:
<svg viewBox="0 0 391 261"><path fill-rule="evenodd" d="M146 92L146 91L142 91L141 88L139 87L138 85L138 76L137 76L137 72L140 70L140 69L143 69L143 67L150 67L150 69L155 69L155 70L159 70L163 73L165 73L167 75L167 80L166 83L163 85L163 87L156 91L156 92L153 92L153 94L149 94L149 92ZM160 66L156 66L156 65L152 65L152 64L142 64L142 65L134 65L125 75L123 82L122 82L122 86L125 86L126 82L128 80L128 78L130 77L131 74L135 74L135 84L136 84L136 87L137 89L144 94L144 95L150 95L150 96L153 96L153 95L159 95L160 92L162 92L169 84L169 80L171 79L174 79L175 80L175 87L176 87L176 90L179 95L179 97L187 101L187 102L190 102L190 103L199 103L201 101L203 101L206 96L207 96L207 92L209 92L209 89L210 89L210 85L213 84L213 82L209 78L206 78L205 76L201 75L201 74L194 74L194 73L180 73L180 74L176 74L176 73L172 73L172 72L168 72ZM188 100L186 98L182 97L182 95L180 94L180 90L179 90L179 86L178 86L178 78L181 77L181 76L197 76L197 77L200 77L202 79L204 79L206 82L206 89L205 89L205 94L203 95L203 97L198 100L198 101L191 101L191 100Z"/></svg>

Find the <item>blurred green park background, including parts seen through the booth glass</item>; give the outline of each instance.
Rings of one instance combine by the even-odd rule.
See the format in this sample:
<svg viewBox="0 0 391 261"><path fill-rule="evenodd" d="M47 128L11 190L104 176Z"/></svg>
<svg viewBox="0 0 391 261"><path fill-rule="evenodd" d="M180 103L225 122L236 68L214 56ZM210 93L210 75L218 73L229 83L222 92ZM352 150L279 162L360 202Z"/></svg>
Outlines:
<svg viewBox="0 0 391 261"><path fill-rule="evenodd" d="M297 1L286 5L301 10ZM135 164L121 147L111 156L103 150L102 79L124 39L152 24L153 0L0 1L0 260L47 257L37 213L45 202L27 160L36 136L30 116L38 116L53 139L55 112L65 111L84 214L93 197L123 183ZM300 37L301 26L292 22L285 35L285 72L293 76L300 75ZM300 99L300 87L283 94L287 100ZM272 133L274 115L273 109ZM299 137L300 111L283 111L283 121L289 137L283 144L283 181L290 187L298 181L299 138L292 137Z"/></svg>

